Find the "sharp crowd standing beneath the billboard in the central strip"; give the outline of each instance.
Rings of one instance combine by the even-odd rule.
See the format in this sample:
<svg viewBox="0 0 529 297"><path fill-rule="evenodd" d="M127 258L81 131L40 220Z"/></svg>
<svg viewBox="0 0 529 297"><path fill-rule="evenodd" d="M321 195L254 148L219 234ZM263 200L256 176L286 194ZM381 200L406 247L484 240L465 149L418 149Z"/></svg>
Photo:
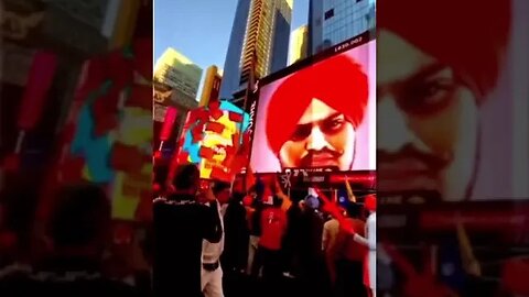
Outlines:
<svg viewBox="0 0 529 297"><path fill-rule="evenodd" d="M375 232L365 232L375 208L337 208L345 223L312 189L289 197L278 183L258 182L238 193L201 184L193 165L170 179L154 200L155 296L375 295L368 268Z"/></svg>

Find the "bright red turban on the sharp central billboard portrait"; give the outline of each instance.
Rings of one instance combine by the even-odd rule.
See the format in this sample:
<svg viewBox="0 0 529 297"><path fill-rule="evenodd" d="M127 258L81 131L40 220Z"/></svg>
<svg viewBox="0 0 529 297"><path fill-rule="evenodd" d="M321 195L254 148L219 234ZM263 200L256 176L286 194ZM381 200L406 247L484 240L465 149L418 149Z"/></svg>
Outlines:
<svg viewBox="0 0 529 297"><path fill-rule="evenodd" d="M270 99L267 138L278 153L294 132L313 98L344 113L356 128L364 119L368 77L352 57L341 54L288 77Z"/></svg>

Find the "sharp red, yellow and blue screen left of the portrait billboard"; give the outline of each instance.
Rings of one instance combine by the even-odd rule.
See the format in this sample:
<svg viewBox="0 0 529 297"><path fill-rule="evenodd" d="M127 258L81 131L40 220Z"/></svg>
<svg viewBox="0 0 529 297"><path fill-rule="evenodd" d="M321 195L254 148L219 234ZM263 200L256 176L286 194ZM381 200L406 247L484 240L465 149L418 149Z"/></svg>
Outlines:
<svg viewBox="0 0 529 297"><path fill-rule="evenodd" d="M179 164L196 164L201 178L230 182L231 163L239 152L242 134L248 130L249 114L220 101L216 114L205 108L190 111L182 133Z"/></svg>

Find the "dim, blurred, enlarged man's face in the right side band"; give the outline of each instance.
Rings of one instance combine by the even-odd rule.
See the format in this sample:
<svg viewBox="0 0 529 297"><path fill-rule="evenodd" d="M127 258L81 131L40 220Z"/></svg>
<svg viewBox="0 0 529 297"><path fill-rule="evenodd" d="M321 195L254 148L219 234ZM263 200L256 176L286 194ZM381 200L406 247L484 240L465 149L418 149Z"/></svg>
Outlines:
<svg viewBox="0 0 529 297"><path fill-rule="evenodd" d="M466 198L476 165L476 98L451 67L400 36L378 36L378 187Z"/></svg>

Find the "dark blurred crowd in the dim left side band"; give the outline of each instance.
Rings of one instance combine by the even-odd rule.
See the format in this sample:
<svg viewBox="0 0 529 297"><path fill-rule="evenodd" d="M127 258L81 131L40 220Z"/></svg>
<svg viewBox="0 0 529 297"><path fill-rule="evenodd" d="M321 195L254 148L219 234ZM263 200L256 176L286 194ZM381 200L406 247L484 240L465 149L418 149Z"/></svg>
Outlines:
<svg viewBox="0 0 529 297"><path fill-rule="evenodd" d="M0 202L1 296L151 296L149 243L138 246L143 267L127 265L101 187L61 186L40 221L35 188L10 186Z"/></svg>

